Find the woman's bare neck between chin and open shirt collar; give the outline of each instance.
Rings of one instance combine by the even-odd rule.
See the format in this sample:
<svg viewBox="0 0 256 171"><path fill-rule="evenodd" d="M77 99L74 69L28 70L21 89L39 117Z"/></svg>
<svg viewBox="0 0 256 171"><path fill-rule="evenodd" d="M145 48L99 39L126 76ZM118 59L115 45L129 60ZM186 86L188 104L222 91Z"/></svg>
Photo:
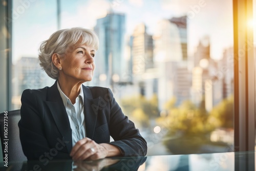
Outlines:
<svg viewBox="0 0 256 171"><path fill-rule="evenodd" d="M59 77L58 83L61 91L71 100L72 104L74 104L76 97L80 93L82 82Z"/></svg>

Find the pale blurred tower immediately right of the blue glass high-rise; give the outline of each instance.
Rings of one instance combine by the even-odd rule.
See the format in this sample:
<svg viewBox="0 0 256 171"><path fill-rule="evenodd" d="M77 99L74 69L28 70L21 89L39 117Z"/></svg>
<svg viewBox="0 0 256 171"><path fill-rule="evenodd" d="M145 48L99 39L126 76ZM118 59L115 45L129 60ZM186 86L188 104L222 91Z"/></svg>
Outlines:
<svg viewBox="0 0 256 171"><path fill-rule="evenodd" d="M153 68L153 38L146 33L146 26L139 24L132 35L133 74L143 74Z"/></svg>

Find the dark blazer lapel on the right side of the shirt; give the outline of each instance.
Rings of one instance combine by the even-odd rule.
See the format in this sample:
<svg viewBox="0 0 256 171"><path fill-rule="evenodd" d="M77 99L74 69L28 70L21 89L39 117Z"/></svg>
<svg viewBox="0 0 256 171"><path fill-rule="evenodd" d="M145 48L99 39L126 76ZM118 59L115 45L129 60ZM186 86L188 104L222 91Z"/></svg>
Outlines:
<svg viewBox="0 0 256 171"><path fill-rule="evenodd" d="M84 96L84 119L86 122L86 136L93 138L98 116L100 98L93 99L91 90L82 85Z"/></svg>

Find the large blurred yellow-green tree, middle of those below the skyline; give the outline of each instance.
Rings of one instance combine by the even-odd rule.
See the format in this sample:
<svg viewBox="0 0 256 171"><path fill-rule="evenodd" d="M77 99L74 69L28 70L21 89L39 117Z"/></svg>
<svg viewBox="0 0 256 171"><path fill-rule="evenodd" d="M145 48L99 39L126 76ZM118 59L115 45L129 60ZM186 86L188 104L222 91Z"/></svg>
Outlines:
<svg viewBox="0 0 256 171"><path fill-rule="evenodd" d="M202 102L203 103L203 102ZM197 107L191 101L183 101L178 107L175 100L166 103L167 116L162 119L168 128L165 146L173 154L199 153L203 144L208 143L214 126L208 124L208 114L203 104Z"/></svg>

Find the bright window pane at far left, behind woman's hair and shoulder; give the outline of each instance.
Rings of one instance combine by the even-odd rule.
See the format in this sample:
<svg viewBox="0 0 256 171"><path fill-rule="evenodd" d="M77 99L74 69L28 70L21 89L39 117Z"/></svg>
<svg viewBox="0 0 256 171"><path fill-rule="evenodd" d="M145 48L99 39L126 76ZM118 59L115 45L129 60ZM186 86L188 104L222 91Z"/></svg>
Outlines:
<svg viewBox="0 0 256 171"><path fill-rule="evenodd" d="M25 89L50 86L53 79L39 67L38 48L57 30L55 1L13 1L12 109L20 108Z"/></svg>

